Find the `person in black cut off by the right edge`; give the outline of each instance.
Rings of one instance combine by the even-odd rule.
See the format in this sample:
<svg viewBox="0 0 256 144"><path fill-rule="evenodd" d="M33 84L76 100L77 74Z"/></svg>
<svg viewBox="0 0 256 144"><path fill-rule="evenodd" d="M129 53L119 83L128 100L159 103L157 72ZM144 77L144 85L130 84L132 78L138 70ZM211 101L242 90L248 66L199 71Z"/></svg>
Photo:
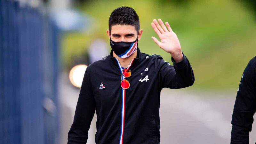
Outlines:
<svg viewBox="0 0 256 144"><path fill-rule="evenodd" d="M232 116L231 144L249 144L256 111L256 57L249 61L237 90Z"/></svg>

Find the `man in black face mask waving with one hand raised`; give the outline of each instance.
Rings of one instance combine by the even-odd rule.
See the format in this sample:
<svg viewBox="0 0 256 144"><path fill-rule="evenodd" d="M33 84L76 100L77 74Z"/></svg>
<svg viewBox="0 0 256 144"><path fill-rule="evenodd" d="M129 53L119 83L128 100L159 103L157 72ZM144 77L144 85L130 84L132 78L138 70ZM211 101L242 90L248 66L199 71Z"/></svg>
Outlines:
<svg viewBox="0 0 256 144"><path fill-rule="evenodd" d="M110 55L89 65L79 94L68 143L86 143L95 109L96 144L155 144L160 141L159 105L162 88L184 88L194 83L188 59L170 25L151 23L172 55L174 66L160 55L140 52L142 36L137 13L130 7L116 8L107 30Z"/></svg>

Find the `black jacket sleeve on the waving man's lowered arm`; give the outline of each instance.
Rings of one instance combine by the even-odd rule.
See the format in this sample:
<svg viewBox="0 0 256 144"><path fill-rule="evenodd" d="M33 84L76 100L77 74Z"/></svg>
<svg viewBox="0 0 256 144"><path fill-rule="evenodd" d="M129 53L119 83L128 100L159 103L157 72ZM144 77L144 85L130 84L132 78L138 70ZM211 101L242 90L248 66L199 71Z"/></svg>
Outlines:
<svg viewBox="0 0 256 144"><path fill-rule="evenodd" d="M87 67L79 93L73 124L68 132L68 144L86 144L88 130L96 109L92 83Z"/></svg>

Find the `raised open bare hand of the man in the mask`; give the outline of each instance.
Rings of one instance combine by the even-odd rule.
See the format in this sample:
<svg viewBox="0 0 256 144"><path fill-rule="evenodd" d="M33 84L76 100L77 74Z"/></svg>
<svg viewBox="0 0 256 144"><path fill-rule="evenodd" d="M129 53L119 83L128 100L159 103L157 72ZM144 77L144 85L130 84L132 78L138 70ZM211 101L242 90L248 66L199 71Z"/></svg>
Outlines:
<svg viewBox="0 0 256 144"><path fill-rule="evenodd" d="M180 62L183 58L183 54L181 52L181 46L177 35L172 31L168 22L165 22L165 25L168 28L167 30L163 21L161 19L158 19L158 21L161 26L158 24L156 19L153 20L151 26L159 36L161 42L154 36L152 36L152 39L165 52L169 52L176 62Z"/></svg>

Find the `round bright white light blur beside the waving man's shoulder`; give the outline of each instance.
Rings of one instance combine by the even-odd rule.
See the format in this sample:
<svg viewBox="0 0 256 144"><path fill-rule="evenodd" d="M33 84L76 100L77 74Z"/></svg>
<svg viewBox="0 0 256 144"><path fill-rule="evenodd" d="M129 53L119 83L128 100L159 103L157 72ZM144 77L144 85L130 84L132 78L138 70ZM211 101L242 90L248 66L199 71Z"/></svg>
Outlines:
<svg viewBox="0 0 256 144"><path fill-rule="evenodd" d="M74 86L81 88L86 68L87 65L76 65L70 70L69 80Z"/></svg>

